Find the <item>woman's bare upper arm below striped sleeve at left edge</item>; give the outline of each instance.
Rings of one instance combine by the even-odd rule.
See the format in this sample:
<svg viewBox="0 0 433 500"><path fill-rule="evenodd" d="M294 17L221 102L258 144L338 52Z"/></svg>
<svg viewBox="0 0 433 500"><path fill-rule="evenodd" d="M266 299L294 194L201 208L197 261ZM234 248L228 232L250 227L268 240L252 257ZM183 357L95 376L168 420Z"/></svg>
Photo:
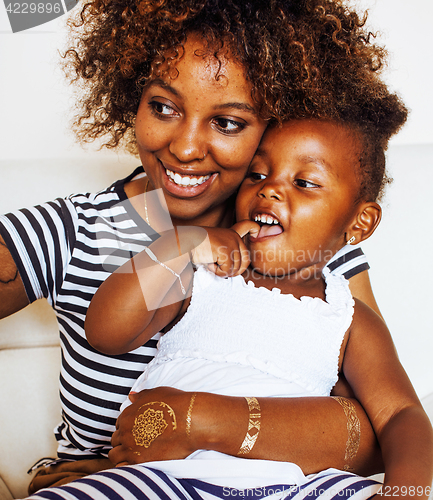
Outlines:
<svg viewBox="0 0 433 500"><path fill-rule="evenodd" d="M5 318L29 304L17 266L0 236L0 318Z"/></svg>

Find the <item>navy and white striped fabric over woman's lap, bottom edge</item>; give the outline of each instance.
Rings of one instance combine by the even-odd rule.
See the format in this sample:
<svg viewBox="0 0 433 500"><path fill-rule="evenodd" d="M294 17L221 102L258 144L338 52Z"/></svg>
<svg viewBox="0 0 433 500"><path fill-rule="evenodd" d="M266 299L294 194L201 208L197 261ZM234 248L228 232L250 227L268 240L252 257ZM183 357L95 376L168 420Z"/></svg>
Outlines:
<svg viewBox="0 0 433 500"><path fill-rule="evenodd" d="M380 489L372 479L330 469L302 485L275 484L239 490L198 479L182 479L151 466L134 465L111 469L68 485L41 490L31 500L366 500Z"/></svg>

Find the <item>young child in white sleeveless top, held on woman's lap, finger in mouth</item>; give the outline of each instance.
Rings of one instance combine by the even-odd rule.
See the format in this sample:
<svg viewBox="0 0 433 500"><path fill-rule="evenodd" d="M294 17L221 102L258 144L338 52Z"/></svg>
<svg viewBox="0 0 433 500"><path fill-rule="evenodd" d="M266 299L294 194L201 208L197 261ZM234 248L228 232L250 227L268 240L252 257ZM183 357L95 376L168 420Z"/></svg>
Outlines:
<svg viewBox="0 0 433 500"><path fill-rule="evenodd" d="M395 108L384 112L391 128L398 123ZM352 494L368 498L379 485L361 486L358 477L335 471L306 478L299 467L282 463L284 451L280 461L259 461L258 476L257 462L244 458L266 458L266 450L275 447L267 429L283 427L280 415L266 411L267 398L329 396L342 373L377 434L384 492L428 497L433 478L428 417L383 321L352 298L343 277L326 269L330 256L368 238L380 221L376 199L385 180L387 134L379 124L316 119L268 129L236 202L240 222L234 229L245 236L249 257L242 241L230 243L230 230L208 230L209 258L195 250L197 228L177 228L134 257L138 280L124 269L101 286L87 316L89 342L109 354L126 352L174 325L133 390L169 386L193 393L185 420L176 419L164 400L149 401L136 412L134 449L143 462L151 460L152 447L169 445L176 433L197 439L194 408L202 391L245 396L248 403L248 430L235 426L239 432L232 436L238 457L201 450L188 460L147 463L137 469L140 474L158 470L170 478L241 489L274 484L326 489L322 480L332 476L334 494L341 488L347 495L350 484ZM199 267L191 299L174 302L187 296L191 280L185 250ZM235 276L220 277L200 266L209 263L216 263L217 274ZM161 307L146 308L140 279L145 286L159 284ZM362 436L350 402L338 402L347 412L349 432L342 468L350 469Z"/></svg>

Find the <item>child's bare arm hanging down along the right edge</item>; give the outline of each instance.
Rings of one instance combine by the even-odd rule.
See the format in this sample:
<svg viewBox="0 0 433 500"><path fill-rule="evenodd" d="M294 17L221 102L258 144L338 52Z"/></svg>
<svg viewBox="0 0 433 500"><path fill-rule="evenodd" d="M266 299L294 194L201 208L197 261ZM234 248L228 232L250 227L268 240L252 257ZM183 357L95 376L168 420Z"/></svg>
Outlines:
<svg viewBox="0 0 433 500"><path fill-rule="evenodd" d="M417 498L427 498L433 478L430 421L398 360L388 329L360 301L356 301L343 371L379 440L384 488L400 496L409 497L411 491L414 496L415 491Z"/></svg>

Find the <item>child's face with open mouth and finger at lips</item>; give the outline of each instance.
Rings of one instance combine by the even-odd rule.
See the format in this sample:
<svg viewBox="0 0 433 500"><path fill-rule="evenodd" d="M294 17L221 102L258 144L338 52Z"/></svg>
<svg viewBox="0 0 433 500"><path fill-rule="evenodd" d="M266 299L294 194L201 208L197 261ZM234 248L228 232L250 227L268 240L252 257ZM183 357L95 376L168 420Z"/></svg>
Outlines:
<svg viewBox="0 0 433 500"><path fill-rule="evenodd" d="M261 225L249 238L254 268L308 276L344 246L357 214L358 148L332 122L294 120L265 133L236 201L238 221Z"/></svg>

